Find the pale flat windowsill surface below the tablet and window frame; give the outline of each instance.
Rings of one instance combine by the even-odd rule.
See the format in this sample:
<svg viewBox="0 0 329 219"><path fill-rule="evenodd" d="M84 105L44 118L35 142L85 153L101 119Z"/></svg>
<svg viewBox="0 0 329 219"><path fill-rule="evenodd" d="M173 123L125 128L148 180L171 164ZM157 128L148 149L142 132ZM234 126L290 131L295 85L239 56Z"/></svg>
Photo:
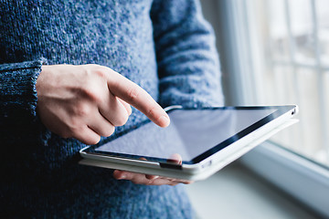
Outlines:
<svg viewBox="0 0 329 219"><path fill-rule="evenodd" d="M197 218L317 218L239 161L186 190Z"/></svg>

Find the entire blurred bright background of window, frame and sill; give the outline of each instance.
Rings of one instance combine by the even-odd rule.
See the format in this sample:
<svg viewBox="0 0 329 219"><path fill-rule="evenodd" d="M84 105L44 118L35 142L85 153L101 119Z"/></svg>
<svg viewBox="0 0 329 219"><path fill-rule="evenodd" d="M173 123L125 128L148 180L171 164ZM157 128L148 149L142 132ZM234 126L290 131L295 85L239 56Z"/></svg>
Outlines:
<svg viewBox="0 0 329 219"><path fill-rule="evenodd" d="M200 218L329 218L329 1L201 4L218 39L226 105L297 104L300 122L188 186L196 212Z"/></svg>

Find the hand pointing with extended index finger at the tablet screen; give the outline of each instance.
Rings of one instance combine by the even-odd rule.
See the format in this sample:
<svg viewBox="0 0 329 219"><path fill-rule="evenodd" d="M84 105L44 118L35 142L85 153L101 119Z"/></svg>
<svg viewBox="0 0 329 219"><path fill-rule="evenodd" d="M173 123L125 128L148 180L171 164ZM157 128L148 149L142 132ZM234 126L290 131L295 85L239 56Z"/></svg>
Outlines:
<svg viewBox="0 0 329 219"><path fill-rule="evenodd" d="M86 144L96 144L125 124L130 105L161 127L170 122L145 90L111 68L43 66L36 88L37 114L48 130Z"/></svg>

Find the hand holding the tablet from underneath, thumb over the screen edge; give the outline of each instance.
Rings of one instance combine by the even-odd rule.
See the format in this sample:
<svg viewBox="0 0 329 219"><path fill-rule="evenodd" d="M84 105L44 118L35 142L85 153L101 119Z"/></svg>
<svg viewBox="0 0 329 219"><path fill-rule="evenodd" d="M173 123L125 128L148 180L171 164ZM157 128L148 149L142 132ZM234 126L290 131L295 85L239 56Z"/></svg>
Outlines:
<svg viewBox="0 0 329 219"><path fill-rule="evenodd" d="M175 153L170 157L170 159L168 159L168 162L182 164L182 157L179 154ZM135 184L144 184L144 185L164 185L164 184L176 185L178 183L185 183L185 184L193 183L192 181L187 181L187 180L179 180L179 179L167 178L163 176L148 175L138 172L126 172L120 170L115 170L113 172L113 177L116 180L129 180Z"/></svg>

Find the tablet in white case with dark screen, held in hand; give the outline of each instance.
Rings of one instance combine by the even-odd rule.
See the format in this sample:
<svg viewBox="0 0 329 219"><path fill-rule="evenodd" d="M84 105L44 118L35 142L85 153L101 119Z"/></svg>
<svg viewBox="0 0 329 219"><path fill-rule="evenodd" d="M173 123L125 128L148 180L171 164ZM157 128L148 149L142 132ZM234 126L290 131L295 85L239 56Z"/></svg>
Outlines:
<svg viewBox="0 0 329 219"><path fill-rule="evenodd" d="M145 120L80 150L80 164L204 180L295 120L297 106L166 109L170 125Z"/></svg>

